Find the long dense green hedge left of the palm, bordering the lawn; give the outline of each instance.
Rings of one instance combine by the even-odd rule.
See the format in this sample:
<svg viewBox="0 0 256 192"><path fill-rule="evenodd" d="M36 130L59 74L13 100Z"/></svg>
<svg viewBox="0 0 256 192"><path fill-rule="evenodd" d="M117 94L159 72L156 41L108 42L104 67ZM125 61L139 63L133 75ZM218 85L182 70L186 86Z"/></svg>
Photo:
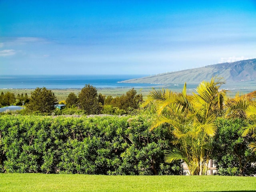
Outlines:
<svg viewBox="0 0 256 192"><path fill-rule="evenodd" d="M181 174L166 164L167 128L149 116L0 116L2 172L111 175Z"/></svg>

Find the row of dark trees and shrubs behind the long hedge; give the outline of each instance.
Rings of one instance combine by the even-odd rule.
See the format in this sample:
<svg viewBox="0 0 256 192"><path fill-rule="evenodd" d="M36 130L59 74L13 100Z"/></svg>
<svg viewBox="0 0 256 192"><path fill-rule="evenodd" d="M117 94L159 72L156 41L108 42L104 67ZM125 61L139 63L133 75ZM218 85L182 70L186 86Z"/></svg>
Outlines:
<svg viewBox="0 0 256 192"><path fill-rule="evenodd" d="M142 104L142 94L137 94L134 88L128 90L126 94L113 98L112 96L104 96L98 94L97 89L86 84L79 92L78 96L71 92L66 100L60 104L65 104L63 110L56 109L58 100L52 90L47 88L36 88L31 92L31 97L27 94L15 98L13 93L7 92L1 95L0 104L8 106L11 104L25 104L25 110L21 114L115 114L122 115L133 112Z"/></svg>

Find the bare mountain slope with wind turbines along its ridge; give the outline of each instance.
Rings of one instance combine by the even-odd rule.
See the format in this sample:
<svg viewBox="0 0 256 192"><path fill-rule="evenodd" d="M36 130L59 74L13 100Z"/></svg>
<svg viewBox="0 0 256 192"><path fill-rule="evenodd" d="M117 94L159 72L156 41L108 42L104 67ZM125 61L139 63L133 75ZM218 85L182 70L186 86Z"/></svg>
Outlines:
<svg viewBox="0 0 256 192"><path fill-rule="evenodd" d="M182 70L130 79L122 83L152 83L152 84L198 84L209 81L213 76L223 77L227 83L256 81L256 59L242 60L231 63L221 63L200 68Z"/></svg>

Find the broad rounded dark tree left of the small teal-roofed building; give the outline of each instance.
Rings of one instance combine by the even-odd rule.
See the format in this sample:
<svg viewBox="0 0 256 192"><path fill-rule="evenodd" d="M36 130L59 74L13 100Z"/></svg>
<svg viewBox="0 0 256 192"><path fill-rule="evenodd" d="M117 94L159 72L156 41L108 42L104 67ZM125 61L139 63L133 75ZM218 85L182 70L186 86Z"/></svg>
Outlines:
<svg viewBox="0 0 256 192"><path fill-rule="evenodd" d="M50 114L54 109L57 99L51 90L47 90L45 87L36 88L31 92L31 98L26 108L33 112Z"/></svg>

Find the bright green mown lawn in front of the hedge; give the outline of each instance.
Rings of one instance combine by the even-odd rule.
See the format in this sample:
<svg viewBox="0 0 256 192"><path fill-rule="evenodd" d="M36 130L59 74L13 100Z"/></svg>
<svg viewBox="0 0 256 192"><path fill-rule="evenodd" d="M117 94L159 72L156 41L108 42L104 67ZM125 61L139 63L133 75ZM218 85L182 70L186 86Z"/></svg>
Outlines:
<svg viewBox="0 0 256 192"><path fill-rule="evenodd" d="M256 191L255 177L0 174L1 192Z"/></svg>

